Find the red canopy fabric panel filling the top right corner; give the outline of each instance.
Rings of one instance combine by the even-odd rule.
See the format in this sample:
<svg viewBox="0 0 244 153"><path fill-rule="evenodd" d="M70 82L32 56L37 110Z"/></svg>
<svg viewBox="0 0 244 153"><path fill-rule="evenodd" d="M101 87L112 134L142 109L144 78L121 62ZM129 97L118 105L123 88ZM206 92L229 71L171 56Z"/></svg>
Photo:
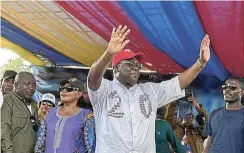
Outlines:
<svg viewBox="0 0 244 153"><path fill-rule="evenodd" d="M195 6L224 67L244 77L244 2L197 1Z"/></svg>

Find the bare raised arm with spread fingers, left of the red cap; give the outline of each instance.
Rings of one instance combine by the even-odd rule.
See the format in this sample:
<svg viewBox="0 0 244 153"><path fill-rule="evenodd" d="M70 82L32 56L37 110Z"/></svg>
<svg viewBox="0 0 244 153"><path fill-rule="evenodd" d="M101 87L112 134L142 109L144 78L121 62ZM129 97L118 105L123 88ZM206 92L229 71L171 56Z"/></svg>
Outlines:
<svg viewBox="0 0 244 153"><path fill-rule="evenodd" d="M91 90L98 90L102 82L102 77L112 61L113 56L123 50L129 43L129 40L125 39L129 33L130 29L128 29L127 26L122 28L120 25L117 29L113 28L106 51L95 63L93 63L88 74L88 87Z"/></svg>

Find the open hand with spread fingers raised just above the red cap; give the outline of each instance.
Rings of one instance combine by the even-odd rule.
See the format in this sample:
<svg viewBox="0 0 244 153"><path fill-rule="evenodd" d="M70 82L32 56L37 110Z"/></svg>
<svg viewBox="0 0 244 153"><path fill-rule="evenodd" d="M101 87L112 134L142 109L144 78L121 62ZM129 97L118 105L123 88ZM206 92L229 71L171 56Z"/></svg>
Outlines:
<svg viewBox="0 0 244 153"><path fill-rule="evenodd" d="M126 36L130 33L130 29L127 26L122 28L121 25L117 29L113 28L111 39L108 43L107 52L110 55L114 55L124 49L124 47L130 42L125 40Z"/></svg>

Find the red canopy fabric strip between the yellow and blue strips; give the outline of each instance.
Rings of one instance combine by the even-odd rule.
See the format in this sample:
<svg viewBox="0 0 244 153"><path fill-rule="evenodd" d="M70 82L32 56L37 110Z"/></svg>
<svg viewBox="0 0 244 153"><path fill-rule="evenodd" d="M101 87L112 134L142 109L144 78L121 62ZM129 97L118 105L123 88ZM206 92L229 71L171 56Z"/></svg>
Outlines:
<svg viewBox="0 0 244 153"><path fill-rule="evenodd" d="M130 43L126 48L133 52L145 54L145 66L161 73L179 73L184 69L175 63L168 55L158 51L140 32L134 22L128 17L116 1L57 1L65 10L80 20L83 24L109 41L113 27L119 24L131 29ZM147 64L151 63L151 64Z"/></svg>

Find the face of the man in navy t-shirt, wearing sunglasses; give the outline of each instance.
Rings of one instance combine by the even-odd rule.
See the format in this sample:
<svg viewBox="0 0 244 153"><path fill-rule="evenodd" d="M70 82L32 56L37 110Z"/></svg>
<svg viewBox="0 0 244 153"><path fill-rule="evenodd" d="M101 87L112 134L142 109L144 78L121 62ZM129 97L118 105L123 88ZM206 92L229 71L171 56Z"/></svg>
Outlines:
<svg viewBox="0 0 244 153"><path fill-rule="evenodd" d="M228 103L236 103L241 100L243 90L237 80L228 79L222 85L224 100Z"/></svg>

